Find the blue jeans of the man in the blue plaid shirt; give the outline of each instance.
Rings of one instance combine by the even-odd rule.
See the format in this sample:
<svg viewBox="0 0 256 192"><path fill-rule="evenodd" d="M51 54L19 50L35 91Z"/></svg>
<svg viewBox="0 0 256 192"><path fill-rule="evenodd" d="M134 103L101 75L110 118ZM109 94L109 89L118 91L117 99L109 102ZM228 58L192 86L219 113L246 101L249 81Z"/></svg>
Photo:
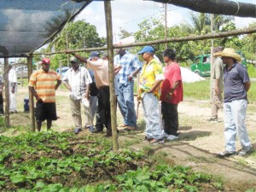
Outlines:
<svg viewBox="0 0 256 192"><path fill-rule="evenodd" d="M119 109L124 118L124 124L129 126L136 126L136 112L134 109L134 96L133 96L133 81L128 84L118 84Z"/></svg>

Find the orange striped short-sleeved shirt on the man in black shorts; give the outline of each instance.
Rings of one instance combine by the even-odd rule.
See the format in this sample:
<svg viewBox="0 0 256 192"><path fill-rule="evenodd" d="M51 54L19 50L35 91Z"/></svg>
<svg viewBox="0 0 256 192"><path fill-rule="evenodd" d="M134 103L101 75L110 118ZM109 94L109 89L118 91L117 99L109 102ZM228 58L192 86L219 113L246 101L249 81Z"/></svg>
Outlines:
<svg viewBox="0 0 256 192"><path fill-rule="evenodd" d="M28 86L33 86L38 93L38 96L43 102L55 102L55 81L61 80L61 76L49 69L49 72L44 72L43 69L32 73Z"/></svg>

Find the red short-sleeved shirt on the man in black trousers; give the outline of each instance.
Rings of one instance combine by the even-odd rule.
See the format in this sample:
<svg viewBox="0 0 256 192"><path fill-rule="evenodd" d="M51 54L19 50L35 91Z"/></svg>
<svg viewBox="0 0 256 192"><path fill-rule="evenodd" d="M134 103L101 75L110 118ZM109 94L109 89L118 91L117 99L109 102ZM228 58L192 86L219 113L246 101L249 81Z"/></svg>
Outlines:
<svg viewBox="0 0 256 192"><path fill-rule="evenodd" d="M183 101L183 81L180 67L176 62L166 66L164 72L165 79L161 85L160 101L177 104ZM174 82L179 82L177 89L173 91L171 100L167 100L166 96L171 91Z"/></svg>

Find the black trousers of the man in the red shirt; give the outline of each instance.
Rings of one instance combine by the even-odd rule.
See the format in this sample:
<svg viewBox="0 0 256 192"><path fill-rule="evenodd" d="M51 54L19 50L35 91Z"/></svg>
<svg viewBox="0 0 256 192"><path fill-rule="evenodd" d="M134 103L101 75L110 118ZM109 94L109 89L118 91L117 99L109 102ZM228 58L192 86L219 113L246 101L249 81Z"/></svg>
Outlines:
<svg viewBox="0 0 256 192"><path fill-rule="evenodd" d="M161 102L162 117L165 122L164 130L167 134L177 136L178 115L177 104Z"/></svg>

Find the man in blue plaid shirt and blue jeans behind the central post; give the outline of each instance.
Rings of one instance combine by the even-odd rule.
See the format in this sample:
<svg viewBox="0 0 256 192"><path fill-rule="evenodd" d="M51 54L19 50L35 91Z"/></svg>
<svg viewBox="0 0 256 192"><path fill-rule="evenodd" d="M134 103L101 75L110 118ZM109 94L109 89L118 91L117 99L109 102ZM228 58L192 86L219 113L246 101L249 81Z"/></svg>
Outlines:
<svg viewBox="0 0 256 192"><path fill-rule="evenodd" d="M120 127L134 130L137 126L137 118L134 109L133 77L139 73L142 66L137 56L126 52L125 49L117 49L116 53L118 55L114 57L113 63L121 67L115 77L116 96L120 112L124 118L124 125L120 125Z"/></svg>

